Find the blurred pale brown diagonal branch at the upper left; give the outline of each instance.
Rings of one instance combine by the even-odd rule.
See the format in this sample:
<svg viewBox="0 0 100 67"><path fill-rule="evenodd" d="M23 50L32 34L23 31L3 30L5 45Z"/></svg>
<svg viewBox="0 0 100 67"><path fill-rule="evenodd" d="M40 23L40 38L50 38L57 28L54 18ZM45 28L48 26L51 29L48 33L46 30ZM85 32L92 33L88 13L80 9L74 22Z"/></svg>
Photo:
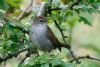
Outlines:
<svg viewBox="0 0 100 67"><path fill-rule="evenodd" d="M28 15L32 11L31 9L32 5L33 5L33 0L31 0L29 6L27 6L25 10L23 10L23 12L18 16L17 21L19 21L20 19L22 19L24 16Z"/></svg>

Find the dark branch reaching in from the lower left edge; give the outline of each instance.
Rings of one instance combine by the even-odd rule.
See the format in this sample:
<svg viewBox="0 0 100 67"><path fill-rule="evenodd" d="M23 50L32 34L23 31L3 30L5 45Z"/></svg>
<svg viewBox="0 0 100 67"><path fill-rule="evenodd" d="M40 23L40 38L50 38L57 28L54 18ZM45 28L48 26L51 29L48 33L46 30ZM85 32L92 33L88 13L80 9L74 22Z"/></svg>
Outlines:
<svg viewBox="0 0 100 67"><path fill-rule="evenodd" d="M30 49L30 48L25 48L25 49L23 49L23 50L20 50L20 51L15 52L15 53L9 54L8 56L6 56L6 57L4 57L4 58L0 57L0 63L3 62L3 61L6 61L6 60L8 60L8 59L10 59L10 58L12 58L12 57L15 57L15 56L17 56L18 54L20 54L20 53L22 53L22 52L25 52L25 51L27 51L27 50L29 50L29 49Z"/></svg>

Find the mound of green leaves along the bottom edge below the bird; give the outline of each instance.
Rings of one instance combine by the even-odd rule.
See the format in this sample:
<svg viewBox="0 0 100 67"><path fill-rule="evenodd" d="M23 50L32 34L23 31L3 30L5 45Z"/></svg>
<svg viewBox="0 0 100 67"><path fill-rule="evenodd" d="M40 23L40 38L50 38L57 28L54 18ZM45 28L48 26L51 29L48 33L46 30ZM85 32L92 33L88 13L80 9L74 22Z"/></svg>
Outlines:
<svg viewBox="0 0 100 67"><path fill-rule="evenodd" d="M22 67L75 67L74 64L61 61L60 58L48 54L33 58Z"/></svg>

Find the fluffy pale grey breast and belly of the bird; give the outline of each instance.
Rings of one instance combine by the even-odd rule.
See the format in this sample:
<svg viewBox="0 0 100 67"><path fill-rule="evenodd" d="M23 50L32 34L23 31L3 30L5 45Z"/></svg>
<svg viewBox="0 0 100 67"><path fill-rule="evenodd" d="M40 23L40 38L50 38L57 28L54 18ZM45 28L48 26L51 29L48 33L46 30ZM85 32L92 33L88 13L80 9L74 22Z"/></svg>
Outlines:
<svg viewBox="0 0 100 67"><path fill-rule="evenodd" d="M38 49L49 51L53 48L53 45L46 34L46 24L36 24L31 27L30 36L32 43Z"/></svg>

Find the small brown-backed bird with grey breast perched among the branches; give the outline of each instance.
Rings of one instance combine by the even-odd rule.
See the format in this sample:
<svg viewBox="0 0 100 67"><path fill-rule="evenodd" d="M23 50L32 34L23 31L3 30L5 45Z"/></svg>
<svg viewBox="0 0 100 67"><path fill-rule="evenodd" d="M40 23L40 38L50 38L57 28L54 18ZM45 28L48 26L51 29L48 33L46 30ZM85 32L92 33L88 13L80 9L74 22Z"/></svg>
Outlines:
<svg viewBox="0 0 100 67"><path fill-rule="evenodd" d="M41 10L43 10L42 7ZM30 28L30 38L36 49L50 52L52 49L58 48L61 51L61 47L70 48L68 45L64 45L58 41L50 27L47 25L47 18L44 16L44 12L37 14Z"/></svg>

